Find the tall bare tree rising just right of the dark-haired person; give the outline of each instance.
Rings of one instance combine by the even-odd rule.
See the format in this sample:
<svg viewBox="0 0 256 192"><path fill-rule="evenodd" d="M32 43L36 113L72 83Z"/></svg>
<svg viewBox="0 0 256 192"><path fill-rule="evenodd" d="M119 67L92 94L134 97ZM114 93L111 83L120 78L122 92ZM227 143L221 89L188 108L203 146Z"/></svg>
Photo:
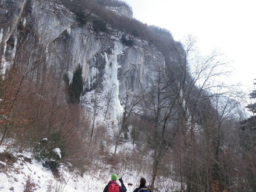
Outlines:
<svg viewBox="0 0 256 192"><path fill-rule="evenodd" d="M148 91L143 95L143 100L145 107L153 114L151 118L154 121L153 172L150 185L150 188L154 189L161 159L171 146L171 127L167 131L167 123L171 121L171 117L174 115L176 97L179 94L171 88L164 66L158 65L155 74L151 76L149 81L150 85L147 88Z"/></svg>

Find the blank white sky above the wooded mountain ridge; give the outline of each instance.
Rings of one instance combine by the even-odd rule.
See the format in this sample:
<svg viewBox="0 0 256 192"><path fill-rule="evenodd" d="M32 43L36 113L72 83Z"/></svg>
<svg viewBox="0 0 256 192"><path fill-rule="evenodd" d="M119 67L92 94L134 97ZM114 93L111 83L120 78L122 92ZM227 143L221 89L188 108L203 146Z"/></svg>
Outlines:
<svg viewBox="0 0 256 192"><path fill-rule="evenodd" d="M255 0L125 0L133 17L167 28L175 40L197 37L202 53L214 48L233 61L232 81L252 86L256 78Z"/></svg>

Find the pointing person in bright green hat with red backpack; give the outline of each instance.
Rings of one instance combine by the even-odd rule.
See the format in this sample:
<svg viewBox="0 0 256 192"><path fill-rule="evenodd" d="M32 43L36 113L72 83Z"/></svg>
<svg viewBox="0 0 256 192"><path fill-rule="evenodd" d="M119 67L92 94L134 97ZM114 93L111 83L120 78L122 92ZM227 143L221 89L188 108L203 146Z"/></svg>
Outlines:
<svg viewBox="0 0 256 192"><path fill-rule="evenodd" d="M117 175L112 174L111 175L111 181L105 186L103 192L126 192L127 189L125 185L123 184L123 179L122 177L118 179L121 182L121 185L119 185L117 182Z"/></svg>

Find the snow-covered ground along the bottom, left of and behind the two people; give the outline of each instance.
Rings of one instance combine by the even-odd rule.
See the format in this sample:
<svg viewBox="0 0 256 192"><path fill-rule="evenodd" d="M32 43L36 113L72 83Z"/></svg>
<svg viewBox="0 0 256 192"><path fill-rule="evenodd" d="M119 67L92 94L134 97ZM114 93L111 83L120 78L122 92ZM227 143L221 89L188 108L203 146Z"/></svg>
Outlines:
<svg viewBox="0 0 256 192"><path fill-rule="evenodd" d="M1 153L3 150L0 151ZM52 171L43 167L42 162L31 158L30 153L13 154L17 162L0 161L0 192L23 192L30 186L30 191L35 192L94 192L103 191L110 180L110 175L117 170L98 170L93 173L81 173L70 171L61 165L59 177L54 177ZM141 176L136 172L122 171L124 184L132 183L138 185ZM33 188L33 189L32 189ZM127 187L127 192L132 192L134 187Z"/></svg>

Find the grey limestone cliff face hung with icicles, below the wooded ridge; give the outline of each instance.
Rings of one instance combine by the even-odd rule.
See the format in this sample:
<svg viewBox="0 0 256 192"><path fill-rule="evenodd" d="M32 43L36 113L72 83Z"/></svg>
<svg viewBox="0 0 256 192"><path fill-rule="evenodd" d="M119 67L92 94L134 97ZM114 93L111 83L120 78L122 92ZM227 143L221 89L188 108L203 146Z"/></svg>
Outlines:
<svg viewBox="0 0 256 192"><path fill-rule="evenodd" d="M75 15L64 6L54 2L0 0L0 15L4 18L0 26L3 73L13 64L21 39L27 38L26 46L31 47L29 42L33 37L25 37L29 35L26 28L36 31L37 40L47 55L47 65L65 65L70 80L76 65L82 65L84 93L97 86L103 89L107 78L118 86L119 97L129 87L138 92L147 87L156 67L164 65L164 56L149 43L136 39L132 47L127 47L120 41L118 32L96 33L89 25L76 21Z"/></svg>

